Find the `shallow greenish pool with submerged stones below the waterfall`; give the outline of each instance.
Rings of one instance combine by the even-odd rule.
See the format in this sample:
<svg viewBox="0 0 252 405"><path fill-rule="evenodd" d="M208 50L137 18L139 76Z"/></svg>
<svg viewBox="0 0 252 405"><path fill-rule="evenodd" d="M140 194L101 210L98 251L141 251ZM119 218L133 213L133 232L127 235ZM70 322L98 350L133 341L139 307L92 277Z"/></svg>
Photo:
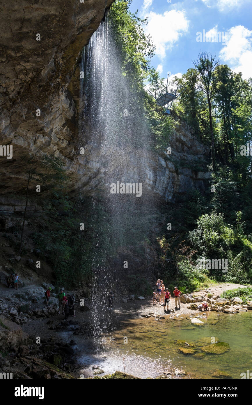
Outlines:
<svg viewBox="0 0 252 405"><path fill-rule="evenodd" d="M122 328L113 334L115 340L110 340L111 357L124 359L124 364L128 362L125 372L131 373L134 358L137 364L135 375L143 376L143 371L139 370L146 367L146 377L155 377L171 367L192 373L191 378L214 378L216 370L241 378L242 372L252 371L252 311L231 315L210 312L205 317L202 315L201 320L203 326L192 325L189 315L174 320L167 317L124 322ZM230 350L223 354L204 355L201 347L211 344L211 339L228 343ZM195 352L191 355L179 352L178 348L183 344L178 340L193 345ZM152 366L146 366L146 362Z"/></svg>

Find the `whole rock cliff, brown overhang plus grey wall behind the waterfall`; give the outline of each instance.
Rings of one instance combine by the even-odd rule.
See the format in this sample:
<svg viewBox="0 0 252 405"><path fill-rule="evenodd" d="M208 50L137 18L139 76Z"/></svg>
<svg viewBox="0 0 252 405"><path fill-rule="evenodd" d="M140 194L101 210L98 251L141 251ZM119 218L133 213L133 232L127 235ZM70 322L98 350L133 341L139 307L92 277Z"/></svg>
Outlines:
<svg viewBox="0 0 252 405"><path fill-rule="evenodd" d="M77 150L80 50L111 4L112 0L10 0L2 6L0 145L13 145L13 158L0 157L1 211L23 210L17 195L27 183L23 162L28 156L59 156L71 177L71 189L81 188L85 194L108 186L106 167L114 156L114 173L120 161L125 176L132 178L130 149L102 151L88 144L82 145L84 155ZM172 147L170 156L165 151L146 155L146 188L168 201L189 188L202 190L209 178L201 171L208 148L184 124L178 125L167 146ZM17 201L9 198L14 193Z"/></svg>

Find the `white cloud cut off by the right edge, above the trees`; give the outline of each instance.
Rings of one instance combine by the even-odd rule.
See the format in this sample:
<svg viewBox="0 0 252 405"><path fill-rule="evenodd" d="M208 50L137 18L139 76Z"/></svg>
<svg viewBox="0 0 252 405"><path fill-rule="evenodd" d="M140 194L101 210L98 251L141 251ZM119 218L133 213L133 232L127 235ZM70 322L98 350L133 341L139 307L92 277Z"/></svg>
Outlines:
<svg viewBox="0 0 252 405"><path fill-rule="evenodd" d="M228 42L220 51L220 58L235 72L241 72L244 79L252 76L252 31L244 26L229 30Z"/></svg>

